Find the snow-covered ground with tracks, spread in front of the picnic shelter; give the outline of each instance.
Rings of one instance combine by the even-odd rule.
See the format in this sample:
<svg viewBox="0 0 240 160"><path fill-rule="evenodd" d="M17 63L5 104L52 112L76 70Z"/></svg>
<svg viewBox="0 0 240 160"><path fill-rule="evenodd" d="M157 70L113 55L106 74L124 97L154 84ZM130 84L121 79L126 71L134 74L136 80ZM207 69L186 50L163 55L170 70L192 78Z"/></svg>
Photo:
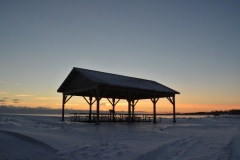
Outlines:
<svg viewBox="0 0 240 160"><path fill-rule="evenodd" d="M77 123L0 115L0 159L240 159L240 118Z"/></svg>

